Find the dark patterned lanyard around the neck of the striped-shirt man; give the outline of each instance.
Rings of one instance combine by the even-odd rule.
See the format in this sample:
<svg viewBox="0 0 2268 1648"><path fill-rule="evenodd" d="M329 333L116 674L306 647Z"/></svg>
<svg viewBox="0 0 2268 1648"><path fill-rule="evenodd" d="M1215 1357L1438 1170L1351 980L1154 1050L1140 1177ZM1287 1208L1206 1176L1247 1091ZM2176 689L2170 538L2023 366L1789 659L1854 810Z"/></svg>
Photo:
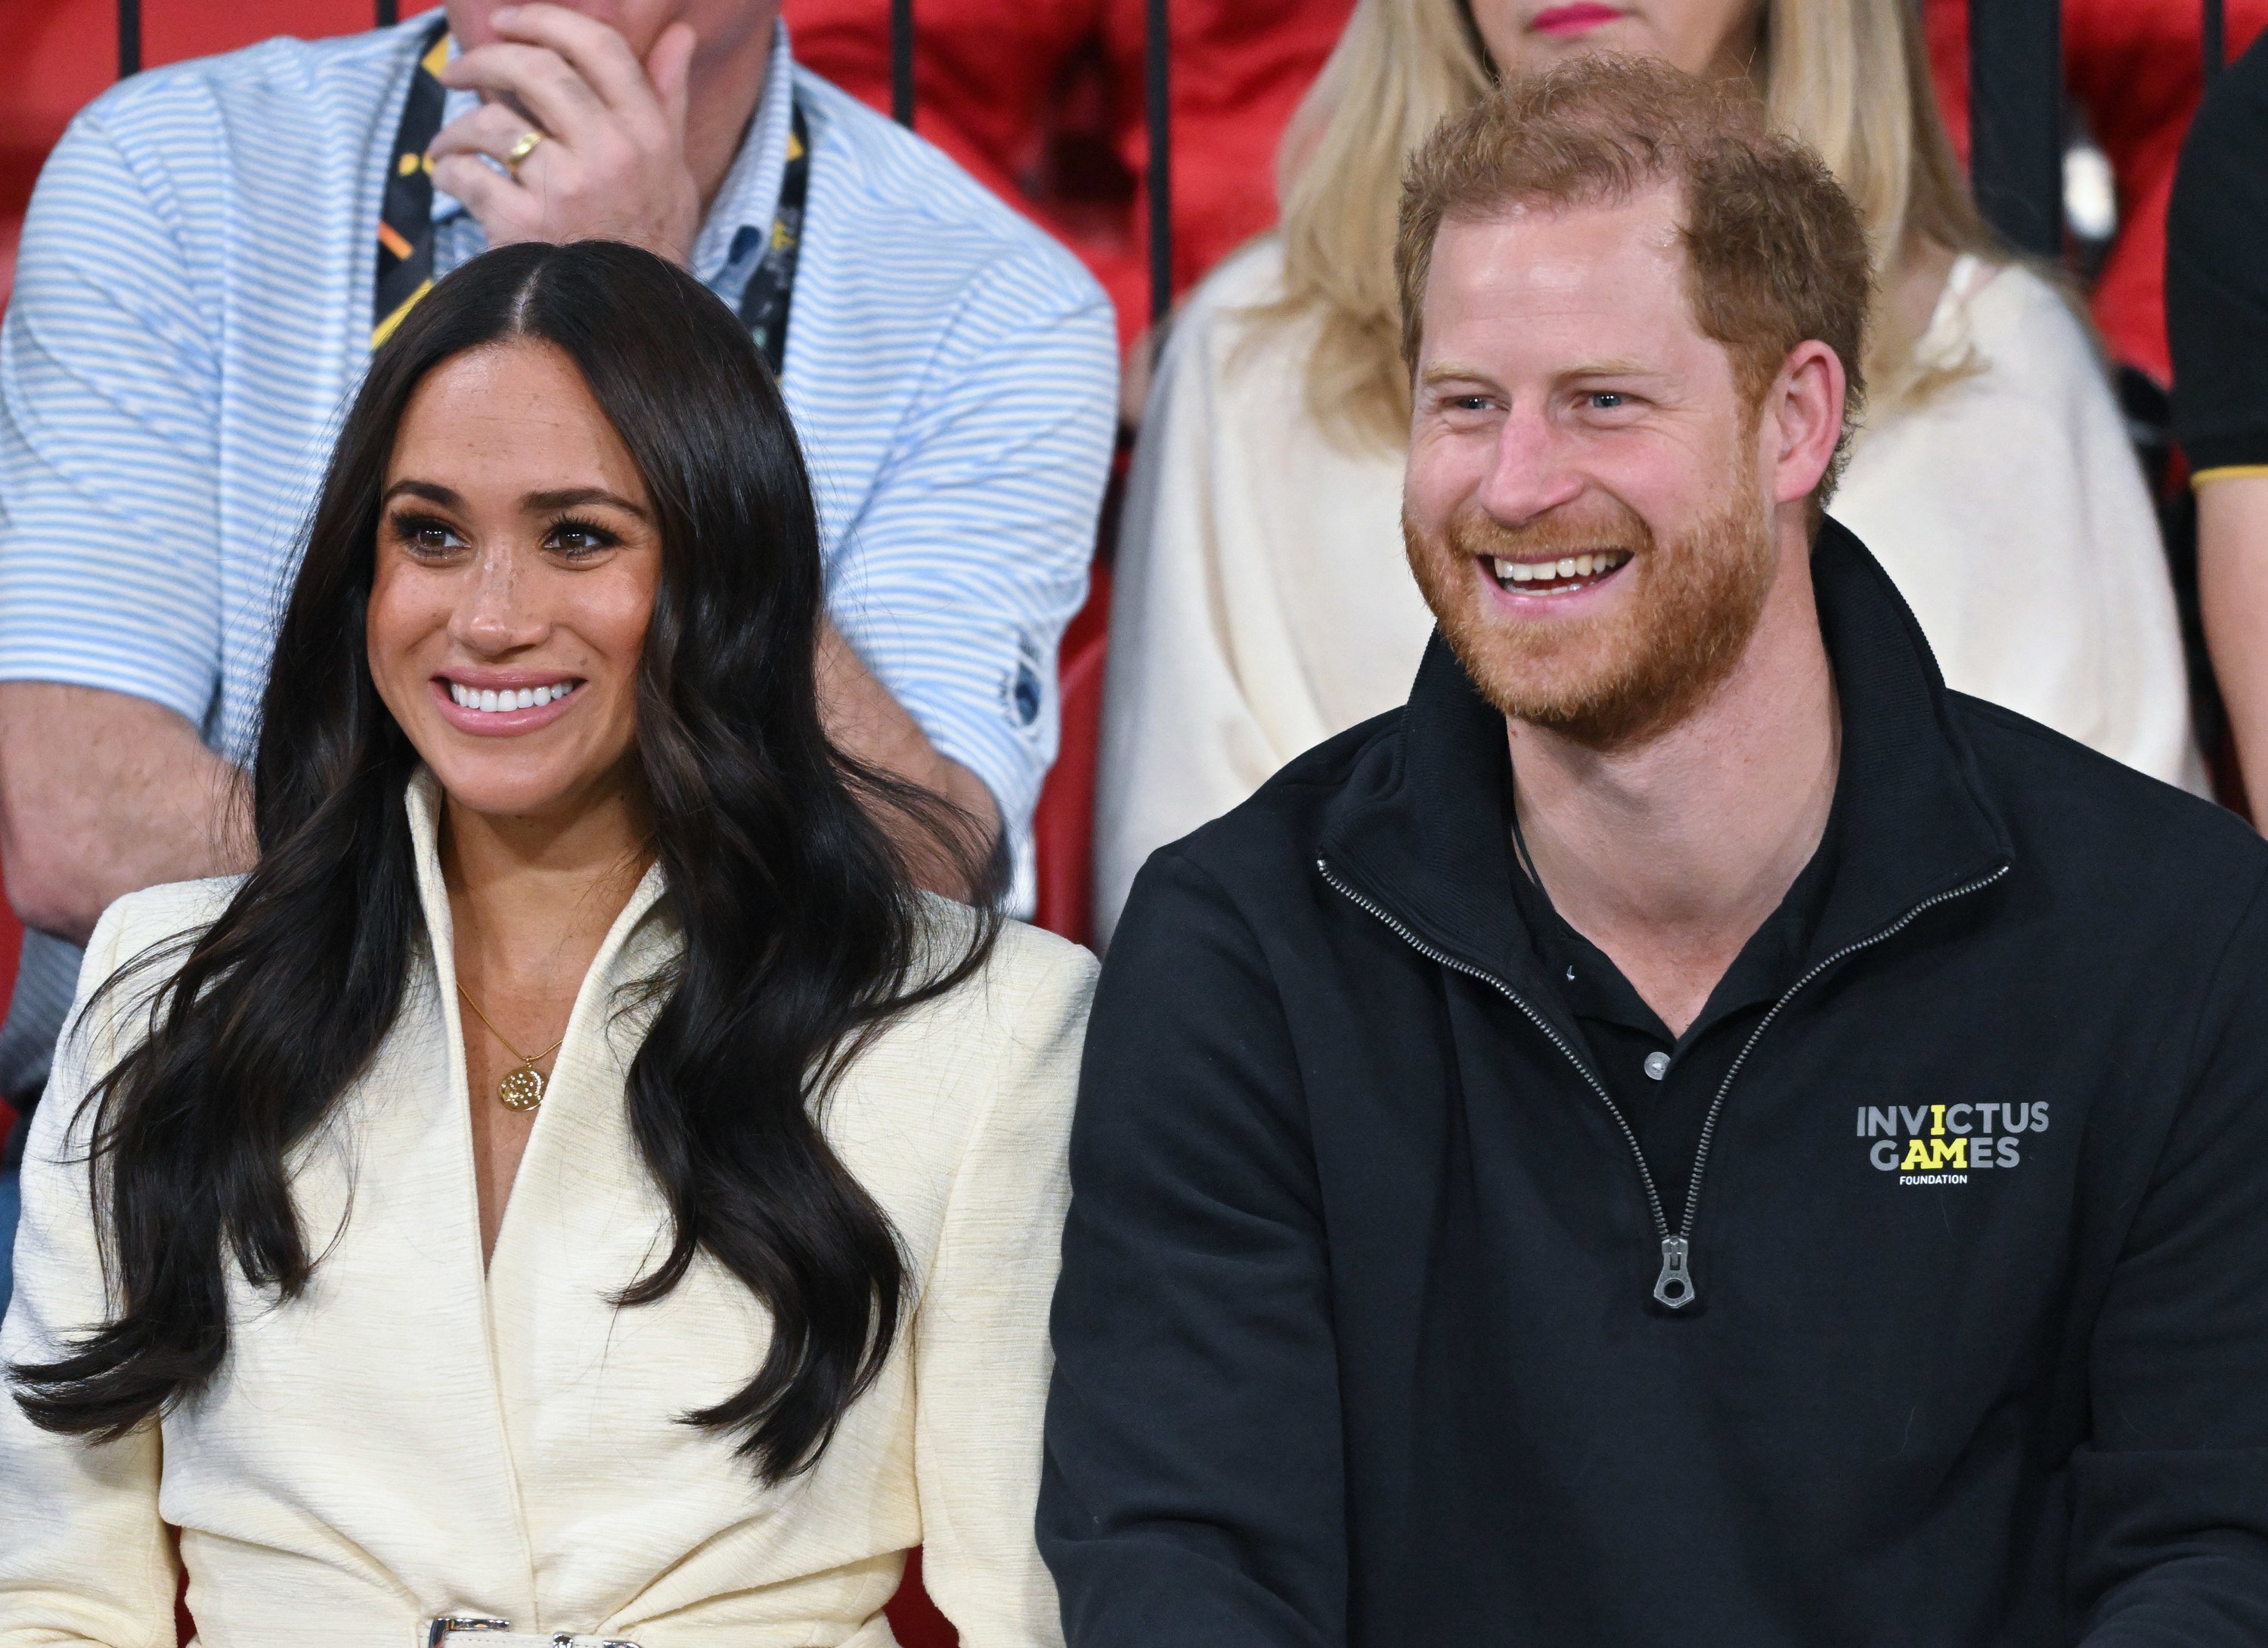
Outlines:
<svg viewBox="0 0 2268 1648"><path fill-rule="evenodd" d="M386 197L379 204L379 274L372 301L370 347L395 335L404 315L433 290L433 161L426 150L440 136L449 88L440 70L449 63L449 23L440 20L417 50L411 95L401 107L386 161ZM787 168L780 172L780 204L771 213L764 256L758 258L739 295L739 320L771 363L771 376L787 365L787 308L796 295L796 256L803 249L803 197L812 181L812 134L803 104L789 109Z"/></svg>

